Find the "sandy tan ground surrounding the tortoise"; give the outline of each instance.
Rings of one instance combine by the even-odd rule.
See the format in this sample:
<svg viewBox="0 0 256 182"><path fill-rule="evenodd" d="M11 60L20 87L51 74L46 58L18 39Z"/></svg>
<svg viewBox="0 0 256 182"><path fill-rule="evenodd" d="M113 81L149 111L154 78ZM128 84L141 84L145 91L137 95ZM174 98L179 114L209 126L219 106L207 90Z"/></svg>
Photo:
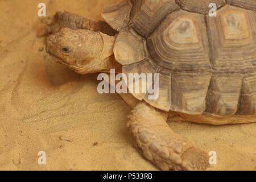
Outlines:
<svg viewBox="0 0 256 182"><path fill-rule="evenodd" d="M117 1L0 0L0 169L156 170L131 140L131 109L121 97L98 94L97 75L77 75L39 51L40 2L47 15L67 10L100 18L102 7ZM256 123L169 123L198 147L217 152L209 170L256 170ZM38 164L39 151L46 151L46 165Z"/></svg>

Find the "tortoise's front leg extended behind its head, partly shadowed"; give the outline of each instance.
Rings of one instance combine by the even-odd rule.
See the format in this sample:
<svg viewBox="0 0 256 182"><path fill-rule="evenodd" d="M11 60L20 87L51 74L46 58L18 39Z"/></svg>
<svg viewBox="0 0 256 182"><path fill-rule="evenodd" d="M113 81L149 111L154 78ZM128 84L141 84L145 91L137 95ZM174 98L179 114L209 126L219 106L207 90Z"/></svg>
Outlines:
<svg viewBox="0 0 256 182"><path fill-rule="evenodd" d="M39 32L38 36L55 34L59 32L61 28L71 28L73 30L86 29L95 32L100 31L112 36L117 34L117 32L104 21L84 18L80 15L68 12L63 13L58 11L54 16L49 16L42 21L46 23L47 26L44 30Z"/></svg>

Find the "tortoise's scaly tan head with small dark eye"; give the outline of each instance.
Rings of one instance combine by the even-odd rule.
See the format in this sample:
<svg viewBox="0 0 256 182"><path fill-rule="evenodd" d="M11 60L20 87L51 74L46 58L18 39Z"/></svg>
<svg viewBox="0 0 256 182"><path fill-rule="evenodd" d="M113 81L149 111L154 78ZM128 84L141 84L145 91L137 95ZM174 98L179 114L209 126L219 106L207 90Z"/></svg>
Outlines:
<svg viewBox="0 0 256 182"><path fill-rule="evenodd" d="M77 73L96 73L102 71L104 65L103 45L100 32L63 28L48 36L46 51L53 61ZM109 52L111 54L113 51Z"/></svg>

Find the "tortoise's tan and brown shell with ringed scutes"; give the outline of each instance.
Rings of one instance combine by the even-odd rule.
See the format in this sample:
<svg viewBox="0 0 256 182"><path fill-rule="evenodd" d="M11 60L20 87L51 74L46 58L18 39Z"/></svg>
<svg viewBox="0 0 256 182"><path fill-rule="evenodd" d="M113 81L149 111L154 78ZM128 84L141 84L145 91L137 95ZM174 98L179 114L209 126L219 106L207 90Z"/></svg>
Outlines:
<svg viewBox="0 0 256 182"><path fill-rule="evenodd" d="M130 0L102 17L119 32L124 73L159 73L159 98L134 94L165 111L256 114L256 1Z"/></svg>

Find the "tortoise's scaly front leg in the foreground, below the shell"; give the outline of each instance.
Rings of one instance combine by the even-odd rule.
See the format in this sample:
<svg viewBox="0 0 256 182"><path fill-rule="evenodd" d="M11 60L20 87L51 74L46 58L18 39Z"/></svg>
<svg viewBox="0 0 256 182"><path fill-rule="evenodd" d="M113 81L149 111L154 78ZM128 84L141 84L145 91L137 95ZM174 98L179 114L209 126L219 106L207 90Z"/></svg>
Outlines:
<svg viewBox="0 0 256 182"><path fill-rule="evenodd" d="M128 127L144 156L163 170L204 170L208 155L166 123L168 113L139 102L129 115Z"/></svg>

